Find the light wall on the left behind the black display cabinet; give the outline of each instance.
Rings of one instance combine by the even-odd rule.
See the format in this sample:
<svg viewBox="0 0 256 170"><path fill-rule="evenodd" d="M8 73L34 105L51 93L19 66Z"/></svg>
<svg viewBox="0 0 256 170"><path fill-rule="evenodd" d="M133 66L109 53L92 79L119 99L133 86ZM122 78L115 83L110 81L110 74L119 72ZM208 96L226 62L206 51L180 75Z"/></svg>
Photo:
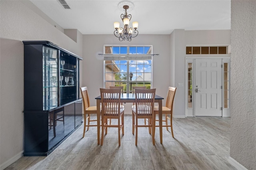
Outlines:
<svg viewBox="0 0 256 170"><path fill-rule="evenodd" d="M22 156L24 149L24 50L22 40L48 40L82 57L77 43L21 1L0 1L0 168ZM81 68L82 69L82 68Z"/></svg>

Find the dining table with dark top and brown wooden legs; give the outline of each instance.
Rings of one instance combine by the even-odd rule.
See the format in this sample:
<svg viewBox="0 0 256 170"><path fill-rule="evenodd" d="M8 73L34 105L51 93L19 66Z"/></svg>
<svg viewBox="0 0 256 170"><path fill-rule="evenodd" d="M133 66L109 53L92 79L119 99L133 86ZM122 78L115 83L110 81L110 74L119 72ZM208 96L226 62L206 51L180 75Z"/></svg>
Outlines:
<svg viewBox="0 0 256 170"><path fill-rule="evenodd" d="M135 94L134 93L122 93L120 96L121 103L135 103ZM97 133L98 133L98 144L100 144L100 103L101 103L101 96L95 97L97 101ZM162 100L164 98L155 95L155 103L158 103L159 107L159 134L160 134L160 144L163 142L163 136L162 136ZM131 109L132 111L132 109Z"/></svg>

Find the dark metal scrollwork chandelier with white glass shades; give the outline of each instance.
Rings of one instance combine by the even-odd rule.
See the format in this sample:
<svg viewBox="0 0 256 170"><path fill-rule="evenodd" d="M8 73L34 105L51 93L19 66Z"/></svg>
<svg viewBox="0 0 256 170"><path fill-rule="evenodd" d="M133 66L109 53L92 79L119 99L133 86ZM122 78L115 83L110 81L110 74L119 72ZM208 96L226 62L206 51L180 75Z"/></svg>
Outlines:
<svg viewBox="0 0 256 170"><path fill-rule="evenodd" d="M114 22L114 28L116 30L114 30L114 35L119 38L119 41L123 41L123 40L127 40L127 41L131 41L132 38L138 36L138 22L133 22L132 23L132 27L134 28L134 31L132 30L132 28L129 28L129 23L130 20L132 18L132 15L129 14L127 15L127 9L129 8L128 5L124 5L123 6L125 12L124 14L121 14L121 19L124 23L124 27L123 28L119 28L120 24L119 22Z"/></svg>

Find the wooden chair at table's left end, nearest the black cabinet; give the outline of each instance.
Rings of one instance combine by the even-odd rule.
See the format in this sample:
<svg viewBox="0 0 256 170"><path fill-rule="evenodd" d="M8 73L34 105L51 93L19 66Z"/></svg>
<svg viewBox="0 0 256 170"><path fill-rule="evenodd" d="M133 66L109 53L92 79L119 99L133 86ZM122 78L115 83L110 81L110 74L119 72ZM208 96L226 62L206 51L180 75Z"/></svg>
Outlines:
<svg viewBox="0 0 256 170"><path fill-rule="evenodd" d="M83 98L83 105L84 105L84 134L87 127L87 130L89 130L89 127L96 127L97 125L90 125L90 122L97 121L97 120L91 120L90 115L96 114L97 115L97 107L96 106L90 106L90 100L88 95L88 88L87 87L80 87L82 98ZM86 117L88 115L88 117ZM86 120L88 120L88 125L86 125ZM83 134L83 137L84 137Z"/></svg>

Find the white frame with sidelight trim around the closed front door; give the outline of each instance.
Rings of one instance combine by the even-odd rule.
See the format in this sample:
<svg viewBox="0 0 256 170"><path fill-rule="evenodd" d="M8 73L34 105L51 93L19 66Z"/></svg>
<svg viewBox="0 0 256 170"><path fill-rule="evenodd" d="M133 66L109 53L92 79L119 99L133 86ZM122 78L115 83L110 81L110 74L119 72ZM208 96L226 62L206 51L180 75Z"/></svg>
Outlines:
<svg viewBox="0 0 256 170"><path fill-rule="evenodd" d="M188 108L188 63L192 63L192 68L194 68L195 66L195 60L196 59L222 59L222 65L224 65L224 63L228 63L228 70L229 70L229 89L230 89L230 54L218 54L218 55L193 55L191 56L191 54L188 54L185 56L185 117L195 117L195 95L192 95L192 108ZM195 89L194 87L196 86L196 82L195 82L195 71L193 71L192 69L192 90ZM230 100L228 101L228 108L223 108L224 105L224 67L222 67L222 116L221 117L230 117ZM229 95L229 99L230 99L230 93Z"/></svg>

